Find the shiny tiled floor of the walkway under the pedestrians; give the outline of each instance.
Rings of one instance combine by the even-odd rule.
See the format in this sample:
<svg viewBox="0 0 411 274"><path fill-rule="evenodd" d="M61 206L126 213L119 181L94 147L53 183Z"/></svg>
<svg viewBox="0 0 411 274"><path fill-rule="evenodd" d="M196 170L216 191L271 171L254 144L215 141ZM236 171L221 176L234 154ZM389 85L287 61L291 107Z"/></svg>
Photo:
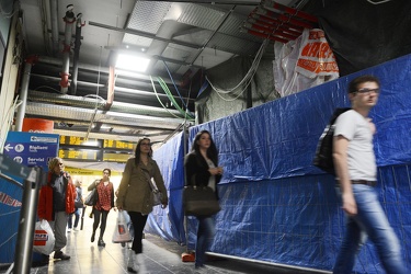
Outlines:
<svg viewBox="0 0 411 274"><path fill-rule="evenodd" d="M112 243L111 237L114 230L116 213L109 214L109 224L105 232L105 248L98 247L96 241L90 242L92 219L84 217L83 230L68 232L67 254L71 255L69 261L50 259L48 266L32 267L32 274L57 273L57 274L96 274L127 273L126 254L127 247ZM99 235L99 230L96 232ZM185 251L175 242L167 242L157 236L146 235L144 240L144 255L147 273L171 274L171 273L316 273L298 270L275 267L255 262L243 262L232 259L215 259L207 263L205 269L197 271L194 263L182 262L181 254ZM53 254L52 254L53 255ZM323 273L323 272L322 272Z"/></svg>

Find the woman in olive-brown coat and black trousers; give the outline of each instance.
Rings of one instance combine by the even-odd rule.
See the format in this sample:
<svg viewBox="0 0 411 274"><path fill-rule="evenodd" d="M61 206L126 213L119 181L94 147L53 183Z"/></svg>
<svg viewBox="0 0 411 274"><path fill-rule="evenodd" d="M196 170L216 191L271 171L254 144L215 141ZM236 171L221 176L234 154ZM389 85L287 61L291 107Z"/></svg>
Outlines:
<svg viewBox="0 0 411 274"><path fill-rule="evenodd" d="M153 206L153 193L148 176L155 180L158 190L162 193L161 207L165 208L169 203L160 169L151 157L150 139L140 139L136 146L135 157L126 162L118 186L117 208L127 210L134 228L133 244L127 262L127 271L132 273L146 272L142 256L142 230Z"/></svg>

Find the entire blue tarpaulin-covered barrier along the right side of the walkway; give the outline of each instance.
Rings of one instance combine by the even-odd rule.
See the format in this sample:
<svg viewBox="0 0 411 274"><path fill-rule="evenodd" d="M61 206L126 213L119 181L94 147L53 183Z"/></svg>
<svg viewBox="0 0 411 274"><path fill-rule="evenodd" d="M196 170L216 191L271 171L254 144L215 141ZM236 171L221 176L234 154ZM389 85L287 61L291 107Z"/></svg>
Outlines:
<svg viewBox="0 0 411 274"><path fill-rule="evenodd" d="M381 81L379 103L370 113L377 126L377 191L380 191L380 202L411 270L410 71L411 56L406 56L192 127L189 146L198 130L209 130L219 150L220 164L225 167L219 185L222 210L216 215L217 235L212 251L282 264L332 269L344 233L344 215L333 178L311 162L318 138L333 110L350 105L346 95L350 80L370 73ZM163 216L159 218L161 224L157 231L182 243L185 235L180 230L184 227L181 208L184 142L181 136L178 138L167 142L163 152L156 151L164 178L169 171L178 173L175 179L167 181L171 196L169 208L173 210L164 212L173 225L169 226ZM179 152L173 152L171 147ZM189 219L187 229L187 247L194 249L195 219ZM362 249L354 270L383 273L374 246L367 243Z"/></svg>

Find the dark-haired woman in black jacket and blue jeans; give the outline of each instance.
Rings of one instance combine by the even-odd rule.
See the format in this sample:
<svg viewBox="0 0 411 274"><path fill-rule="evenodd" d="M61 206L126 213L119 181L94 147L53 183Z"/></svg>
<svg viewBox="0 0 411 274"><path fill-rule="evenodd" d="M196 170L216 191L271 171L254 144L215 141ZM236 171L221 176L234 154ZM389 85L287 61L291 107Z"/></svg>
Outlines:
<svg viewBox="0 0 411 274"><path fill-rule="evenodd" d="M217 184L222 175L222 167L218 167L218 151L207 130L195 135L192 150L185 157L185 179L187 185L209 186L217 198ZM215 236L214 216L197 216L198 229L195 246L195 267L203 267L205 252L213 243Z"/></svg>

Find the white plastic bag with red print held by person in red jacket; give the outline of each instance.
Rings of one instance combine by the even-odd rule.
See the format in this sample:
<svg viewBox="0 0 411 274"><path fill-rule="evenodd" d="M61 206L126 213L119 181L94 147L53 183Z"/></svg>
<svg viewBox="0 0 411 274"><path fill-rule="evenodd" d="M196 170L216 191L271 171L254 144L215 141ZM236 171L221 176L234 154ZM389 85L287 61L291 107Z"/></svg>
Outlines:
<svg viewBox="0 0 411 274"><path fill-rule="evenodd" d="M34 230L33 250L49 255L54 250L55 241L56 239L48 221L45 219L37 221Z"/></svg>

